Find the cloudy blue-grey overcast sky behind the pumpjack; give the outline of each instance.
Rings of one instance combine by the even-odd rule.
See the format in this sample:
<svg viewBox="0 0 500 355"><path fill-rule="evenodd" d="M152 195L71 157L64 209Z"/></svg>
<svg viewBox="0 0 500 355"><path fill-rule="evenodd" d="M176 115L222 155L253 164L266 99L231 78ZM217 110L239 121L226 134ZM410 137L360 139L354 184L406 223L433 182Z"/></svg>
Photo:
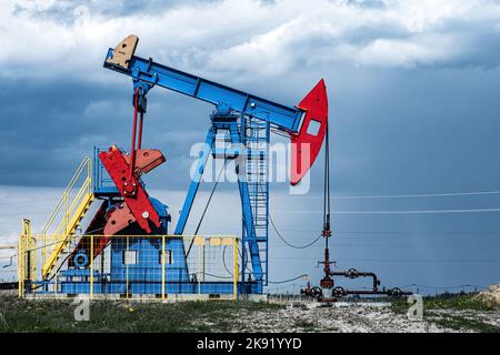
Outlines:
<svg viewBox="0 0 500 355"><path fill-rule="evenodd" d="M499 194L359 197L500 190L498 0L2 1L0 235L21 215L41 224L93 145L129 145L131 80L102 62L130 33L140 57L288 105L326 79L333 194L358 196L333 204L340 268L388 285L499 281L500 212L457 212L498 209ZM178 211L212 106L159 88L148 104L144 146L167 163L144 180ZM272 186L273 220L296 244L321 230L321 176L317 164L308 195ZM210 225L237 233L223 211L238 209L236 186L222 189ZM434 210L454 212L380 213ZM270 250L271 278L319 277L320 244L298 252L271 232Z"/></svg>

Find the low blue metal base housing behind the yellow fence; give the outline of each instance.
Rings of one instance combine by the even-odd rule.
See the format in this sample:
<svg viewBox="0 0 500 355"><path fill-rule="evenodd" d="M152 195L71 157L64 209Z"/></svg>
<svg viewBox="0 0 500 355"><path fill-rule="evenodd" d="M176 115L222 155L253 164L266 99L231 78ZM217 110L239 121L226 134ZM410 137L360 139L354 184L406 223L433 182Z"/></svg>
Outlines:
<svg viewBox="0 0 500 355"><path fill-rule="evenodd" d="M111 241L109 274L94 271L96 294L162 294L162 237L116 236ZM136 251L137 263L127 265L123 252ZM164 265L164 293L167 294L232 294L232 282L198 282L189 276L182 237L167 239L166 251L172 263ZM70 268L61 273L61 291L66 294L90 293L90 268Z"/></svg>

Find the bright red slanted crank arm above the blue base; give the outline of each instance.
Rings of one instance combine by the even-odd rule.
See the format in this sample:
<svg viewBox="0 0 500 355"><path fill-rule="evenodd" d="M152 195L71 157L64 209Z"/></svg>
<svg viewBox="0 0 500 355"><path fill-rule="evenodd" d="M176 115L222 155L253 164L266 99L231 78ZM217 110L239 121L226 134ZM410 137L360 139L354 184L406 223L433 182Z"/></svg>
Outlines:
<svg viewBox="0 0 500 355"><path fill-rule="evenodd" d="M118 187L118 191L123 196L124 203L130 210L131 214L136 217L138 224L146 233L151 233L149 221L151 221L157 227L160 226L160 216L149 201L148 193L142 187L139 179L136 174L130 174L131 166L123 158L123 153L116 146L111 146L108 152L99 153L99 159L108 171L109 175L113 180ZM164 158L163 158L164 161ZM129 179L132 176L131 180ZM130 187L133 186L133 193ZM113 220L118 225L128 225L128 214L119 214L127 221ZM111 220L112 215L110 216Z"/></svg>

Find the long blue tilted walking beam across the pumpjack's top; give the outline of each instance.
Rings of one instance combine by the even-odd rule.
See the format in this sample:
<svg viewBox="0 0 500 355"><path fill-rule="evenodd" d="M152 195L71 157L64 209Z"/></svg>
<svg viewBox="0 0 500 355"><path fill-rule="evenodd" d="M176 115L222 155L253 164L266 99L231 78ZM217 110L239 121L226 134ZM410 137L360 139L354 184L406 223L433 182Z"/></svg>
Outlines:
<svg viewBox="0 0 500 355"><path fill-rule="evenodd" d="M107 59L112 58L112 53L113 50L109 49ZM136 55L129 62L129 70L110 64L106 60L104 68L214 105L230 105L234 111L264 120L281 130L294 133L299 131L304 114L304 111L300 109L276 103Z"/></svg>

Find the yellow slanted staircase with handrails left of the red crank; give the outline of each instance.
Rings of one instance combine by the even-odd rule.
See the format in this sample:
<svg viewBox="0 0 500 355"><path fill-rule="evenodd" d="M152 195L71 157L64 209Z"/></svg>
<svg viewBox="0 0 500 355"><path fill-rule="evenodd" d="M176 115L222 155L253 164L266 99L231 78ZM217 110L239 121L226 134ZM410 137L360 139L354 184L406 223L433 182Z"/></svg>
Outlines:
<svg viewBox="0 0 500 355"><path fill-rule="evenodd" d="M77 194L71 199L72 192L78 189ZM92 161L86 156L78 166L68 187L64 190L56 209L42 230L42 278L47 280L58 264L62 252L71 242L71 237L80 226L82 219L90 209L94 200L92 190ZM57 222L59 221L59 223ZM58 224L56 224L58 223ZM56 226L54 230L52 227ZM49 252L49 256L47 254Z"/></svg>

